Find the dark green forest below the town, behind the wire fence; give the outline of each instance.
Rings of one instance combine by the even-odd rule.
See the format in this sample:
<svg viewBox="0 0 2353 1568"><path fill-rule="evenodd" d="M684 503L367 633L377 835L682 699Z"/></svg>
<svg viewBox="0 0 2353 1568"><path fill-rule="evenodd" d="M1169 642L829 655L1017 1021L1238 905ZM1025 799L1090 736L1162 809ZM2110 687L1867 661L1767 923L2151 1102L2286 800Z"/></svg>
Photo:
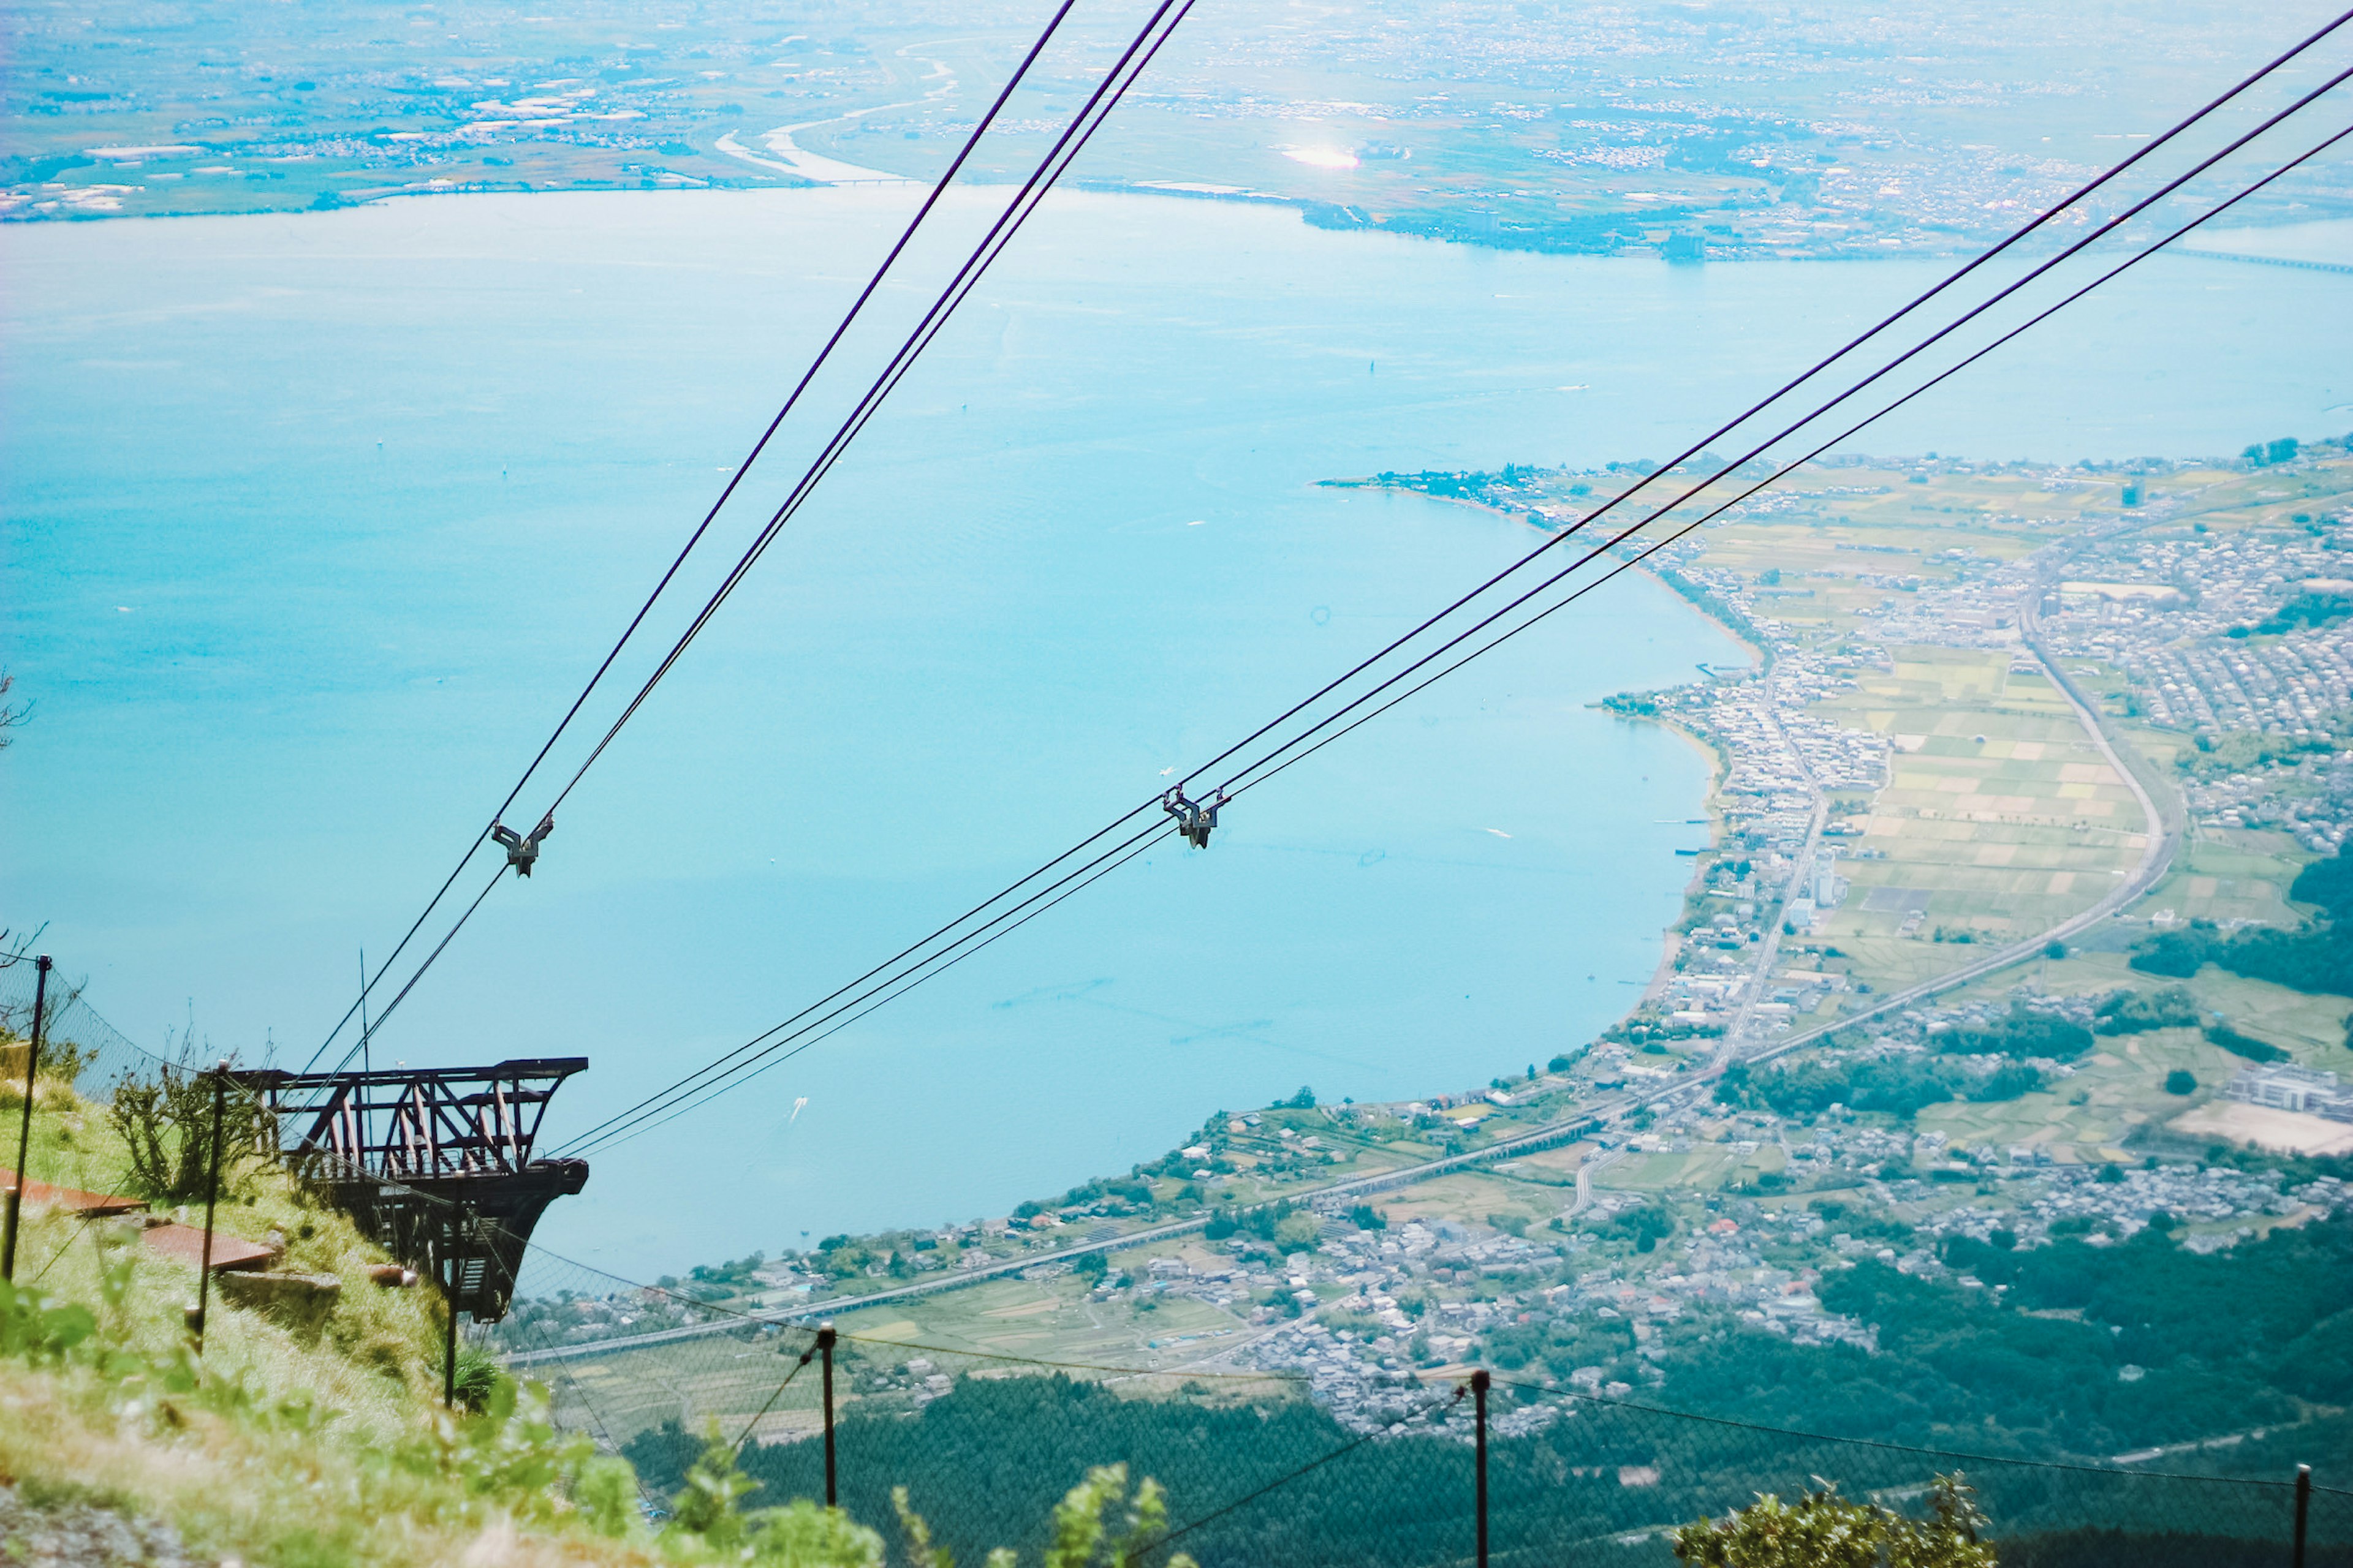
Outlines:
<svg viewBox="0 0 2353 1568"><path fill-rule="evenodd" d="M2268 1479L2292 1474L2297 1460L2322 1474L2353 1467L2353 1422L2311 1420L2313 1406L2353 1403L2353 1218L2280 1229L2226 1255L2188 1253L2158 1227L2104 1248L1955 1239L1944 1255L1981 1286L1922 1281L1878 1262L1824 1279L1831 1309L1875 1326L1875 1354L1798 1347L1729 1312L1689 1312L1640 1347L1645 1354L1624 1321L1497 1335L1497 1415L1525 1401L1567 1410L1539 1432L1494 1441L1497 1552L1558 1554L1562 1542L1591 1542L1586 1549L1602 1554L1595 1561L1647 1561L1607 1540L1737 1507L1753 1490L1798 1490L1809 1476L1859 1493L1951 1469L1953 1460L1887 1446L1908 1443L1986 1455L1969 1465L1969 1479L2005 1535L2129 1528L2169 1535L2165 1549L2179 1552L2205 1537L2214 1554L2205 1561L2233 1561L2238 1547L2214 1537L2278 1542L2285 1488L2002 1460L2108 1467L2134 1448L2238 1436L2212 1453L2167 1455L2165 1467ZM1595 1363L1640 1394L1569 1401L1541 1389ZM1447 1396L1445 1385L1431 1389L1433 1401ZM1457 1408L1457 1422L1461 1415ZM2264 1436L2247 1436L2257 1427ZM904 1483L958 1556L979 1561L995 1544L1038 1549L1040 1521L1087 1465L1125 1460L1155 1476L1172 1490L1172 1519L1188 1521L1325 1460L1209 1521L1184 1547L1205 1568L1405 1566L1468 1554L1464 1441L1348 1443L1355 1434L1308 1401L1233 1403L1200 1387L1176 1399L1122 1396L1059 1375L962 1378L922 1410L866 1401L845 1413L842 1502L887 1530L889 1488ZM699 1434L668 1422L631 1441L626 1455L649 1486L671 1490L699 1446ZM762 1483L753 1502L819 1493L821 1465L816 1443L744 1455ZM2017 1561L2120 1561L2101 1556L2097 1537L2052 1535L2033 1552L2040 1556Z"/></svg>

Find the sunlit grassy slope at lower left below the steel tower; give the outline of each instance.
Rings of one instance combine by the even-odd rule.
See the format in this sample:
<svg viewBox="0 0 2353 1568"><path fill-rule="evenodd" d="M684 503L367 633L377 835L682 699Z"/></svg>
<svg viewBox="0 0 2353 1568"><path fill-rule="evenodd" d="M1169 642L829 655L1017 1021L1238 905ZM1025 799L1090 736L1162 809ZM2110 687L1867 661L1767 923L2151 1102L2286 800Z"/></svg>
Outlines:
<svg viewBox="0 0 2353 1568"><path fill-rule="evenodd" d="M0 1105L9 1131L19 1103ZM127 1161L99 1107L52 1084L35 1105L35 1180L125 1190L101 1180ZM565 1521L546 1486L515 1486L534 1465L562 1472L558 1446L534 1450L522 1422L440 1415L431 1288L369 1284L384 1253L348 1220L275 1168L238 1171L219 1229L261 1239L273 1225L289 1239L282 1267L344 1281L332 1319L304 1335L214 1295L198 1363L181 1333L193 1267L122 1222L28 1208L21 1288L45 1312L87 1309L96 1331L64 1356L0 1354L0 1481L155 1516L193 1552L252 1563L654 1561ZM24 1326L0 1305L0 1345L9 1321Z"/></svg>

